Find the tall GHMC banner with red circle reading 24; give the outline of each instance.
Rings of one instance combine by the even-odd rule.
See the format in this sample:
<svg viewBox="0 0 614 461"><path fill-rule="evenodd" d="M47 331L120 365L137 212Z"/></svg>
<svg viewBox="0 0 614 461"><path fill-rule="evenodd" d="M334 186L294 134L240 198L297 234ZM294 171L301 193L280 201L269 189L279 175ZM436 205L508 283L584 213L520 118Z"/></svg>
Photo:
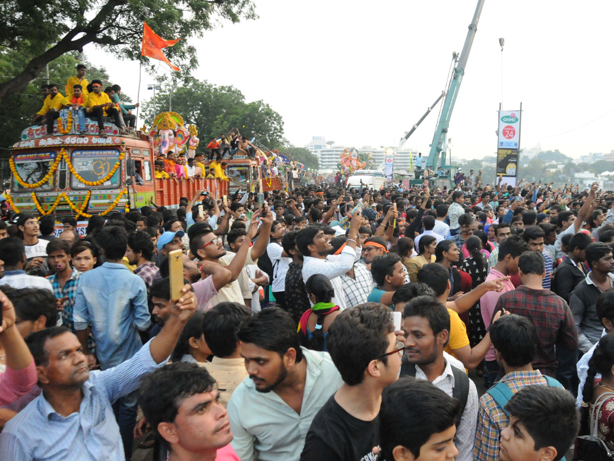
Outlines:
<svg viewBox="0 0 614 461"><path fill-rule="evenodd" d="M502 183L516 186L518 176L518 152L520 149L520 111L499 111L499 136L497 140L497 178Z"/></svg>

